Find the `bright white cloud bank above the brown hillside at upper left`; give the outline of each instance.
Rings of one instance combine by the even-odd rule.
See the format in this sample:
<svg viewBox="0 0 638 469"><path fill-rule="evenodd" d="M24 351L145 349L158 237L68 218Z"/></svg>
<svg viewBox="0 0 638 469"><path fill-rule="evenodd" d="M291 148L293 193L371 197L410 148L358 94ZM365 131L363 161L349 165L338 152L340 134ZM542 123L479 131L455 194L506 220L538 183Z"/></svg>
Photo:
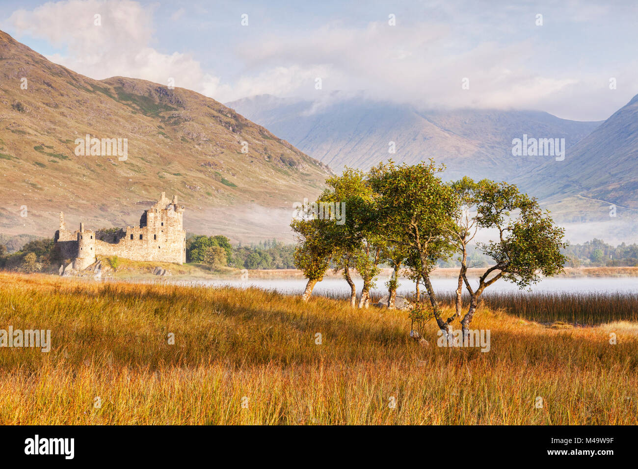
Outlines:
<svg viewBox="0 0 638 469"><path fill-rule="evenodd" d="M101 15L101 26L94 15ZM172 20L181 17L181 8ZM20 34L43 38L65 54L47 58L73 71L98 80L124 76L192 89L219 101L253 94L288 94L326 75L325 66L269 66L252 76L224 84L213 73L202 70L189 54L163 54L150 47L153 40L152 9L130 0L66 0L46 3L32 11L18 10L9 18Z"/></svg>

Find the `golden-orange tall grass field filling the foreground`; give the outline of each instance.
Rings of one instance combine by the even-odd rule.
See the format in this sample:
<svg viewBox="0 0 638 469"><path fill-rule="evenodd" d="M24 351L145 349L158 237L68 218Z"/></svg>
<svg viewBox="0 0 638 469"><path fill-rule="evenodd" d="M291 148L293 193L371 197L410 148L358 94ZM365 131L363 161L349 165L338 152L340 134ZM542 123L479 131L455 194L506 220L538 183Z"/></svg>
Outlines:
<svg viewBox="0 0 638 469"><path fill-rule="evenodd" d="M482 353L436 346L433 322L419 346L402 311L320 297L8 273L0 285L0 329L52 336L48 353L0 348L3 424L638 421L635 323L545 327L479 309Z"/></svg>

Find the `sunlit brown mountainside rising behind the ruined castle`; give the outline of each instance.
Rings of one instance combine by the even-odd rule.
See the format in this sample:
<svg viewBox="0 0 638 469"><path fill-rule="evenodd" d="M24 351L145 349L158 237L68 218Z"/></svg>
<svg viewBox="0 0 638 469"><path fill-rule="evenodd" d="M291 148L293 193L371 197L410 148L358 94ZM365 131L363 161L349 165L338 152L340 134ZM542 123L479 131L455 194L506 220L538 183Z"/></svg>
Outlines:
<svg viewBox="0 0 638 469"><path fill-rule="evenodd" d="M122 151L126 139L126 160L90 148L82 156L86 135L121 139ZM316 197L330 174L202 94L135 78L93 80L0 31L2 233L52 236L59 211L70 226L135 225L165 191L186 207L189 232L289 238L293 202Z"/></svg>

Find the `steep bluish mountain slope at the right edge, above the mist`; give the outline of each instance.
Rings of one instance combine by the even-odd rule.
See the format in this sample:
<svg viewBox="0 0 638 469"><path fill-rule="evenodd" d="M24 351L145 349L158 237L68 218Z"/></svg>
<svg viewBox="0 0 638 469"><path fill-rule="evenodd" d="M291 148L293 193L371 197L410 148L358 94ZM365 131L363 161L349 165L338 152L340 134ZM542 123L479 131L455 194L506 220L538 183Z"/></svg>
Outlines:
<svg viewBox="0 0 638 469"><path fill-rule="evenodd" d="M638 242L638 96L568 149L514 179L539 197L572 241Z"/></svg>

